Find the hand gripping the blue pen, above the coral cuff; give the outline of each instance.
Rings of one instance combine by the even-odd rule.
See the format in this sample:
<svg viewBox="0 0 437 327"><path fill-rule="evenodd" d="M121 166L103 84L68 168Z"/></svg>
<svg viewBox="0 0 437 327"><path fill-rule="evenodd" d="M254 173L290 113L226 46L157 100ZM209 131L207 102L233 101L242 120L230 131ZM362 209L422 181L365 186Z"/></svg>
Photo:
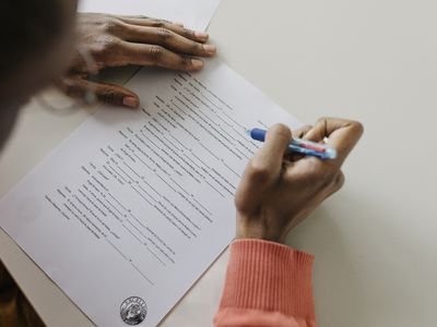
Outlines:
<svg viewBox="0 0 437 327"><path fill-rule="evenodd" d="M361 123L332 118L294 131L295 137L327 142L336 149L334 160L320 160L291 154L290 129L272 126L246 167L235 196L237 239L283 242L293 227L342 186L341 166L362 134Z"/></svg>

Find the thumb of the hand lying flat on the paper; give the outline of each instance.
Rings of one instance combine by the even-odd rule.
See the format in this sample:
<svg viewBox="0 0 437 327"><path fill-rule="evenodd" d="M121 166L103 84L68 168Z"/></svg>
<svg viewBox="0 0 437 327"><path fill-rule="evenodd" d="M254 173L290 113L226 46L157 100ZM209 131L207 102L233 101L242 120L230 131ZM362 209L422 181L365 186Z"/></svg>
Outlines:
<svg viewBox="0 0 437 327"><path fill-rule="evenodd" d="M140 105L140 99L134 93L118 85L95 83L81 77L66 77L58 85L73 98L83 99L91 90L101 102L129 108L138 108Z"/></svg>

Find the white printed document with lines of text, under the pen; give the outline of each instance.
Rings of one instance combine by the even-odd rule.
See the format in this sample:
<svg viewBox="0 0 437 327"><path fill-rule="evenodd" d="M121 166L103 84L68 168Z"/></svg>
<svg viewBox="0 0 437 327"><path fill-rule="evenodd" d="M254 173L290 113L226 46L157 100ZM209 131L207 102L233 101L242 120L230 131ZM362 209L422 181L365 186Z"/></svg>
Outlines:
<svg viewBox="0 0 437 327"><path fill-rule="evenodd" d="M234 238L259 146L245 130L299 123L218 61L127 87L142 109L91 117L0 202L0 225L97 325L126 326L139 296L155 326Z"/></svg>

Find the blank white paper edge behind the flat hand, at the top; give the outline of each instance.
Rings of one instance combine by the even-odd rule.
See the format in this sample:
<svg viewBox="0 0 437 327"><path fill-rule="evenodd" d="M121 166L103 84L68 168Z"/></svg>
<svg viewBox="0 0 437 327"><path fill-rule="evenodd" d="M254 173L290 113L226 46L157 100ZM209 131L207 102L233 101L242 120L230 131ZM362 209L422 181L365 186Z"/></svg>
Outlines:
<svg viewBox="0 0 437 327"><path fill-rule="evenodd" d="M204 31L221 0L82 0L80 12L102 12L123 15L146 15L184 23Z"/></svg>

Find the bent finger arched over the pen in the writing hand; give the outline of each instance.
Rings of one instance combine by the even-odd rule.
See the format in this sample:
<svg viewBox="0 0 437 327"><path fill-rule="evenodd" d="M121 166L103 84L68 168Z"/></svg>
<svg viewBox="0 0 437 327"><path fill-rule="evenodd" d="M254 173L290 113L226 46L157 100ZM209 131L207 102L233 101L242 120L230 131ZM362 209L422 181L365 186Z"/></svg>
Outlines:
<svg viewBox="0 0 437 327"><path fill-rule="evenodd" d="M304 138L314 142L322 142L327 138L327 144L336 149L338 155L334 161L341 165L358 142L363 131L363 125L356 121L321 118Z"/></svg>

